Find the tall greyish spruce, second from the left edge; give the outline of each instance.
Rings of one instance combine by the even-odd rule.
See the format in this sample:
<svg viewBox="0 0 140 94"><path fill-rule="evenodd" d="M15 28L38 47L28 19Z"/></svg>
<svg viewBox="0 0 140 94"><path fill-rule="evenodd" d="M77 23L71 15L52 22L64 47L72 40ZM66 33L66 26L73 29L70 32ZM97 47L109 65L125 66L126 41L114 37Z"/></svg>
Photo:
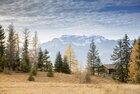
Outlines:
<svg viewBox="0 0 140 94"><path fill-rule="evenodd" d="M14 71L16 69L16 63L15 63L16 41L15 41L15 30L12 24L9 25L8 31L9 31L8 42L7 42L8 63L10 65L10 69Z"/></svg>

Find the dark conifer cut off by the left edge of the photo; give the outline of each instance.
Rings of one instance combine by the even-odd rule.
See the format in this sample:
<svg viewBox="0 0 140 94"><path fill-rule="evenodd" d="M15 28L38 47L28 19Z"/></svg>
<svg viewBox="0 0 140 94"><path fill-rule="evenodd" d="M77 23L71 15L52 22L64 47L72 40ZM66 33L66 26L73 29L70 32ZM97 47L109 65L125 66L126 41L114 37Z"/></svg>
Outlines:
<svg viewBox="0 0 140 94"><path fill-rule="evenodd" d="M5 32L2 26L0 25L0 71L4 70L5 61Z"/></svg>

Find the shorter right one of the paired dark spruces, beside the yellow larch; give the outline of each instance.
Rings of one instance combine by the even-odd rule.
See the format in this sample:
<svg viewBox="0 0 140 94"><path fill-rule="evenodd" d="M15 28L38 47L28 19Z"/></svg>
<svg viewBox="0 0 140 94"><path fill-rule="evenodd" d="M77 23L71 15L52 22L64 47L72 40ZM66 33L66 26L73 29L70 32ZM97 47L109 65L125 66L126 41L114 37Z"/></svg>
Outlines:
<svg viewBox="0 0 140 94"><path fill-rule="evenodd" d="M69 67L69 64L68 64L68 59L67 59L66 56L64 57L63 64L62 64L62 72L66 73L66 74L71 73L71 70L70 70L70 67Z"/></svg>

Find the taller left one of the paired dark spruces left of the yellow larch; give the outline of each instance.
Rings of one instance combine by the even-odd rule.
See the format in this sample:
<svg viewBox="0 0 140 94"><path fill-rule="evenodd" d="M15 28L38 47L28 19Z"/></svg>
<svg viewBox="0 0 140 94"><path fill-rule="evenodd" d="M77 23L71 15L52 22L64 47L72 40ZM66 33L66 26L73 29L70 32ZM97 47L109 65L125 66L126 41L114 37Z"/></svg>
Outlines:
<svg viewBox="0 0 140 94"><path fill-rule="evenodd" d="M58 52L55 60L55 71L62 72L62 64L63 61L62 61L61 53Z"/></svg>

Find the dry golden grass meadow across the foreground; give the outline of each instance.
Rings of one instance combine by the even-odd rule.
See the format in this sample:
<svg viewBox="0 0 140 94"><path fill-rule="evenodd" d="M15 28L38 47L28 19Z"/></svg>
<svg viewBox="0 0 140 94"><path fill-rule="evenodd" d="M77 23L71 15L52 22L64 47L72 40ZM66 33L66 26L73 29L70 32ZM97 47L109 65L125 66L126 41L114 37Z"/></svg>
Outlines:
<svg viewBox="0 0 140 94"><path fill-rule="evenodd" d="M40 72L35 82L28 74L0 73L0 94L140 94L140 85L121 84L109 78L92 77L91 84L80 84L79 75L56 73L48 78Z"/></svg>

